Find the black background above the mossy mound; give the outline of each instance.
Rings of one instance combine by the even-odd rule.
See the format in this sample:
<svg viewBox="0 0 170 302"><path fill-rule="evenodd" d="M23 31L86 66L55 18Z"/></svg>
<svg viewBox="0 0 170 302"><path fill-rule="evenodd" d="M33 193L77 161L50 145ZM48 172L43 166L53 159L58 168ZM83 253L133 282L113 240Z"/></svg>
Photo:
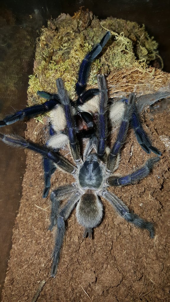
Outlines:
<svg viewBox="0 0 170 302"><path fill-rule="evenodd" d="M40 11L45 20L56 18L60 13L74 15L81 6L88 8L99 18L112 16L145 24L150 36L159 43L160 55L164 60L164 71L170 72L170 1L169 0L62 0L62 1L6 1L6 6L19 18L22 14L32 14L35 9Z"/></svg>

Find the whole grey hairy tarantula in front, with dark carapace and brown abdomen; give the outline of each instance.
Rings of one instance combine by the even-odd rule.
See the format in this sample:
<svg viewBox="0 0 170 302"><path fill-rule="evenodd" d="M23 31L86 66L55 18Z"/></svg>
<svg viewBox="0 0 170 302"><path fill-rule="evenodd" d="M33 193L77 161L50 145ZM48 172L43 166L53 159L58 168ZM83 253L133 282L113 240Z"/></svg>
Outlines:
<svg viewBox="0 0 170 302"><path fill-rule="evenodd" d="M64 108L67 120L67 136L69 146L75 165L59 153L54 153L47 146L39 146L29 143L21 137L15 135L0 134L0 138L11 146L21 146L41 153L46 158L54 162L57 167L74 176L75 182L57 188L51 193L51 225L50 230L57 226L55 246L53 251L53 263L51 277L55 277L57 265L60 257L60 249L64 239L64 220L70 216L71 211L76 207L78 222L84 227L84 237L91 237L92 229L98 226L103 217L103 205L100 197L105 198L113 206L116 212L133 223L136 227L146 229L150 237L154 237L153 223L140 218L137 214L131 213L128 207L115 194L111 194L107 187L124 186L139 182L152 170L159 157L148 159L144 165L134 170L131 174L118 176L114 174L119 166L120 152L125 143L129 123L134 113L135 95L131 94L126 102L123 119L118 131L116 142L110 149L107 145L108 137L108 95L106 80L103 75L98 76L98 86L100 102L98 108L98 120L96 134L89 138L83 152L83 159L80 155L80 145L75 131L75 115L70 105L70 98L64 88L62 79L57 79L57 89L61 104ZM60 201L67 199L64 207L60 206Z"/></svg>

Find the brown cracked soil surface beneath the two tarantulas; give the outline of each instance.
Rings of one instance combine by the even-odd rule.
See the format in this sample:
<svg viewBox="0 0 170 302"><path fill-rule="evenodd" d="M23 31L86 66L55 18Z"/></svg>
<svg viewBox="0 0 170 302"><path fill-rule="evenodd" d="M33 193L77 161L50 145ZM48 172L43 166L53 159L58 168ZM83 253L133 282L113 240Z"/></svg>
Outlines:
<svg viewBox="0 0 170 302"><path fill-rule="evenodd" d="M74 210L67 220L56 278L50 277L55 231L47 230L50 197L42 198L41 156L26 151L23 196L13 231L2 302L32 301L42 280L46 283L38 302L169 301L169 149L160 139L169 137L168 110L154 115L148 112L143 117L144 129L153 145L162 151L157 167L139 184L110 188L136 214L155 222L155 238L150 239L147 231L136 229L117 216L103 199L103 221L94 230L93 240L83 239L83 228L78 225ZM27 139L42 143L44 133L41 123L28 122ZM148 158L130 130L119 172L128 173ZM70 175L57 170L50 192L70 182Z"/></svg>

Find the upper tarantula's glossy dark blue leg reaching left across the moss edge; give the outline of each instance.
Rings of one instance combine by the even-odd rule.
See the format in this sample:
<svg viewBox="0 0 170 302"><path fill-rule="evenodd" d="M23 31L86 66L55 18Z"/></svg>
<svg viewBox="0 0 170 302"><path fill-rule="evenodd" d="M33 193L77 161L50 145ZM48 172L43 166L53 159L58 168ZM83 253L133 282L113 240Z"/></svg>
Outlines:
<svg viewBox="0 0 170 302"><path fill-rule="evenodd" d="M18 120L23 120L25 117L31 118L39 114L50 111L59 103L59 99L50 100L41 105L34 105L25 109L22 109L15 114L7 115L3 120L0 121L0 127L13 124Z"/></svg>

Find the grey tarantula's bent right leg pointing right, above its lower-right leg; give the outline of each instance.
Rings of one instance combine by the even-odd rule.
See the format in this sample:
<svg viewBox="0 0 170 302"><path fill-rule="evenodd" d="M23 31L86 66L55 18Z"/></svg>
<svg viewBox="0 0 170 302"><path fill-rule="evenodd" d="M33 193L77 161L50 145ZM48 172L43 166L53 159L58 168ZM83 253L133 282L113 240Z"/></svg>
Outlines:
<svg viewBox="0 0 170 302"><path fill-rule="evenodd" d="M152 157L148 159L144 165L136 169L133 173L125 176L110 176L107 179L107 184L110 186L126 186L139 182L141 179L145 178L152 171L155 163L158 162L160 158Z"/></svg>

